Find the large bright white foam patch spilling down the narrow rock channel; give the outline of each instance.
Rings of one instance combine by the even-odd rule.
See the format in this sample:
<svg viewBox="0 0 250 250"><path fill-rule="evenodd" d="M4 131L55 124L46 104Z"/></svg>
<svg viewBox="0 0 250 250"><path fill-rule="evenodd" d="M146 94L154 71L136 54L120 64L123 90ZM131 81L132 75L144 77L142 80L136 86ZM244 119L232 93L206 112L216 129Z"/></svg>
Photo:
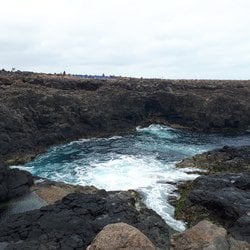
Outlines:
<svg viewBox="0 0 250 250"><path fill-rule="evenodd" d="M183 222L174 219L174 208L167 201L176 187L166 182L193 180L197 174L187 174L182 169L176 169L175 162L164 164L149 156L122 155L90 165L87 172L81 166L76 168L78 184L95 185L108 191L139 190L145 196L145 203L170 226L179 231L185 229Z"/></svg>

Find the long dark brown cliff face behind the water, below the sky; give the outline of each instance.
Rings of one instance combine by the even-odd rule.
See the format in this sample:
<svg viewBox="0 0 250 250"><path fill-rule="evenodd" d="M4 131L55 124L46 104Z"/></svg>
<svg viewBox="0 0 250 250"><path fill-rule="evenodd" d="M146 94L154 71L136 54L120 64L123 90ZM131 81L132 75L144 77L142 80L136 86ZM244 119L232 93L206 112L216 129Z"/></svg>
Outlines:
<svg viewBox="0 0 250 250"><path fill-rule="evenodd" d="M0 155L162 122L199 130L246 129L249 81L80 80L0 72Z"/></svg>

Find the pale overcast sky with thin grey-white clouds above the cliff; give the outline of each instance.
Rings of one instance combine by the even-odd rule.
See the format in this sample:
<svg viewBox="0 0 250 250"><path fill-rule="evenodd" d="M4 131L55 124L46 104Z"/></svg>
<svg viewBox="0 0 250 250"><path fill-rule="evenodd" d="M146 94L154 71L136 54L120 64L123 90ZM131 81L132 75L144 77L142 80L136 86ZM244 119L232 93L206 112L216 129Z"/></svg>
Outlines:
<svg viewBox="0 0 250 250"><path fill-rule="evenodd" d="M0 0L0 68L250 79L250 1Z"/></svg>

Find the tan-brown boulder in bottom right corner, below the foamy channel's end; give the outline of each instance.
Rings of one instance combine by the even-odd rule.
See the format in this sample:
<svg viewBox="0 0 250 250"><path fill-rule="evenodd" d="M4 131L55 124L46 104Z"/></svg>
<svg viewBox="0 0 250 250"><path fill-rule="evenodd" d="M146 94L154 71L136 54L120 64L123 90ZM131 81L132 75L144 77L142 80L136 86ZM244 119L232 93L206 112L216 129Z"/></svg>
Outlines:
<svg viewBox="0 0 250 250"><path fill-rule="evenodd" d="M209 221L201 221L171 237L171 250L249 250L250 244L227 236L227 231Z"/></svg>

